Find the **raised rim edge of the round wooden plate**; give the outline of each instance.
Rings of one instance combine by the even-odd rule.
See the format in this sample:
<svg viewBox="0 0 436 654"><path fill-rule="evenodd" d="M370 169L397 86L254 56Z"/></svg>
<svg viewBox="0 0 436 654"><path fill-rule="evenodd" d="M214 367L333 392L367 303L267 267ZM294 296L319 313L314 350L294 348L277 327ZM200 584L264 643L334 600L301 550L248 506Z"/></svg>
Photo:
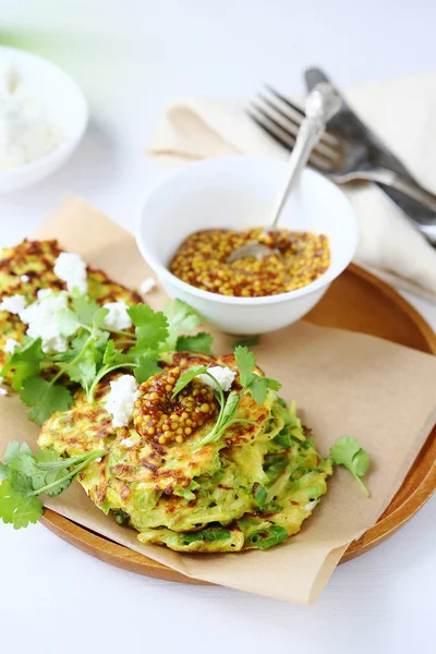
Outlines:
<svg viewBox="0 0 436 654"><path fill-rule="evenodd" d="M407 300L404 300L388 283L368 272L364 268L361 268L356 264L350 264L348 270L368 283L375 286L395 304L397 304L400 310L415 324L417 330L424 337L427 351L432 354L436 354L435 332L428 323L423 318L423 316L417 313L417 311ZM434 432L432 434L434 434ZM429 437L432 437L432 435ZM397 507L397 509L387 516L382 517L374 526L366 530L366 532L360 538L351 543L339 562L342 564L351 560L364 554L365 552L368 552L388 538L408 520L410 520L410 518L412 518L416 511L419 511L419 509L427 501L427 499L429 499L435 489L436 459L433 461L427 474L420 482L413 493L411 493L407 499L404 499L404 501ZM154 561L153 559L148 559L137 552L109 541L50 509L45 509L41 522L59 537L68 541L75 547L119 568L128 569L140 574L146 574L148 577L166 579L169 581L207 584L207 582L202 582L199 580L185 577L184 574L167 568L166 566Z"/></svg>

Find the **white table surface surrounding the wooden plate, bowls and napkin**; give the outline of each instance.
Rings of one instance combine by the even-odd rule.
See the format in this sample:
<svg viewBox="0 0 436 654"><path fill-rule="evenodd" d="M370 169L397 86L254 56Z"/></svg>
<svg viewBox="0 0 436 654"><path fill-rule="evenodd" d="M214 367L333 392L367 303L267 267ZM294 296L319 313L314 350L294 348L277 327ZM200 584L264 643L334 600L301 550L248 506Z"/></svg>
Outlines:
<svg viewBox="0 0 436 654"><path fill-rule="evenodd" d="M72 72L93 109L63 170L0 198L0 245L26 235L65 192L131 228L166 174L143 149L177 95L249 96L265 80L300 90L301 70L316 62L342 85L436 65L433 0L0 0L0 15L7 38ZM436 307L409 299L436 327ZM433 499L388 542L340 566L311 607L142 578L41 525L1 525L1 650L429 654L435 509Z"/></svg>

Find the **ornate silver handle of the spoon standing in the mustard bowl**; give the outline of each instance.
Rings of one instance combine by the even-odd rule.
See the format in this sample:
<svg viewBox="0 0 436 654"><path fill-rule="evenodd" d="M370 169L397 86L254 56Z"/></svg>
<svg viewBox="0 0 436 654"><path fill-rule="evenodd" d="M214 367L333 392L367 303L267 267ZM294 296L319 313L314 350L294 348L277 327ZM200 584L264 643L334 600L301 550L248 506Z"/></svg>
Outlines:
<svg viewBox="0 0 436 654"><path fill-rule="evenodd" d="M296 134L295 145L289 157L288 172L272 211L270 231L275 231L281 210L311 153L322 137L327 121L339 110L340 98L330 84L317 84L308 94L305 105L306 118Z"/></svg>

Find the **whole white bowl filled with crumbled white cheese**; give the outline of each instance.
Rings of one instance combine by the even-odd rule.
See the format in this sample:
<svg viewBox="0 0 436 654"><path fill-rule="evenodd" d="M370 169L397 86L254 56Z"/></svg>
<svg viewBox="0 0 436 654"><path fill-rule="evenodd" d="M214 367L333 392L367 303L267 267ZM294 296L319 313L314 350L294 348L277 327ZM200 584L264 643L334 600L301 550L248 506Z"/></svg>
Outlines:
<svg viewBox="0 0 436 654"><path fill-rule="evenodd" d="M86 98L50 61L0 47L0 194L58 170L82 140Z"/></svg>

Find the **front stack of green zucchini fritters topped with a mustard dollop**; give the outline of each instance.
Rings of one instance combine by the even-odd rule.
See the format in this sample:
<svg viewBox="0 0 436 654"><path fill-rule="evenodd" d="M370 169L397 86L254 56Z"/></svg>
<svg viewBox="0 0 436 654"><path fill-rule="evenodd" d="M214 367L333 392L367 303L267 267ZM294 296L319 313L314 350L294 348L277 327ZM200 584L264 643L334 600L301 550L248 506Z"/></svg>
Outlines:
<svg viewBox="0 0 436 654"><path fill-rule="evenodd" d="M172 399L178 376L198 364L238 372L233 355L174 354L140 387L129 426L113 427L105 409L106 380L93 407L81 391L73 409L55 413L38 444L69 456L107 448L108 456L77 480L102 511L136 529L142 542L179 552L277 544L300 530L326 493L330 462L271 391L261 405L251 393L242 397L237 417L254 424L231 425L219 440L202 445L216 421L210 387L194 379ZM232 389L240 388L237 375ZM279 437L283 428L288 441Z"/></svg>

